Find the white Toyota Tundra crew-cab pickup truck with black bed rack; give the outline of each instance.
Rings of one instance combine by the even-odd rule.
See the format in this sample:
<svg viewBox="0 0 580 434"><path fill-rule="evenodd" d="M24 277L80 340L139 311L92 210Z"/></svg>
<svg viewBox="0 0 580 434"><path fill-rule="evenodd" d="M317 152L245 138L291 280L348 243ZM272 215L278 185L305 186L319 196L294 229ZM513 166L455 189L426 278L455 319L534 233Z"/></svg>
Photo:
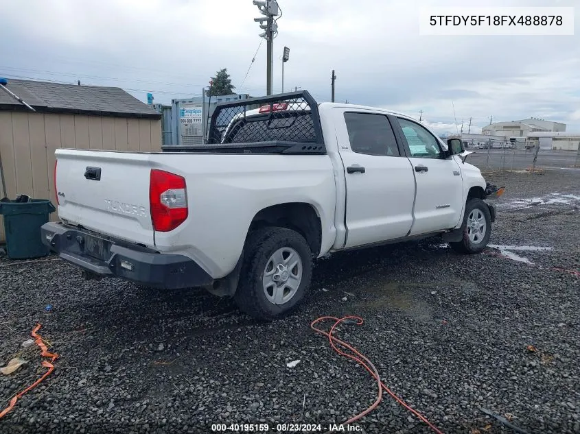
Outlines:
<svg viewBox="0 0 580 434"><path fill-rule="evenodd" d="M163 151L57 149L43 242L86 276L205 287L272 320L316 257L436 235L478 253L496 217L459 139L306 91L220 104L205 145Z"/></svg>

